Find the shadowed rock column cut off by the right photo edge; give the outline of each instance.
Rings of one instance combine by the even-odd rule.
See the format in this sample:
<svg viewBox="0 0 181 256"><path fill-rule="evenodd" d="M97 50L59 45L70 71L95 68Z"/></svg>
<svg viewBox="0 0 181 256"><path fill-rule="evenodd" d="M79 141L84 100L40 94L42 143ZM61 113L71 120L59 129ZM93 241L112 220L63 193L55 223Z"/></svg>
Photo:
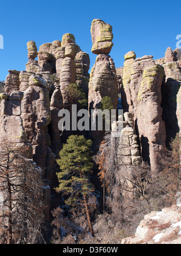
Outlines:
<svg viewBox="0 0 181 256"><path fill-rule="evenodd" d="M162 84L162 118L165 121L167 132L166 144L170 147L171 138L175 138L176 133L180 130L180 100L179 89L181 82L180 70L180 51L172 51L167 48L165 53L165 82Z"/></svg>

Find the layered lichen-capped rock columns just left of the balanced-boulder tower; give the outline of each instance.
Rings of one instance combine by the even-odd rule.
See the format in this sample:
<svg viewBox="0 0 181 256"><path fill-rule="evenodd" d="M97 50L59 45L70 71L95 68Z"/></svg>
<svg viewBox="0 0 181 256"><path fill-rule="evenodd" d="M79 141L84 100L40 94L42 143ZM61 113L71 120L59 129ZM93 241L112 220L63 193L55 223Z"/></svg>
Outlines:
<svg viewBox="0 0 181 256"><path fill-rule="evenodd" d="M75 43L74 35L64 34L61 46L56 48L56 71L57 77L60 78L61 97L65 107L68 107L69 101L66 88L71 83L77 83L83 92L87 93L89 65L89 54L80 50L80 46Z"/></svg>

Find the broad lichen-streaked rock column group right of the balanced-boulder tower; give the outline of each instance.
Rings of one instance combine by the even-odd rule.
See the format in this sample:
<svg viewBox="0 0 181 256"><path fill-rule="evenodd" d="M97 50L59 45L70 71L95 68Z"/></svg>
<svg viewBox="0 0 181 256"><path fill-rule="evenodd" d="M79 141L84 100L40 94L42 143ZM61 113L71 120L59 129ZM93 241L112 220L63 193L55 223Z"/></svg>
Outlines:
<svg viewBox="0 0 181 256"><path fill-rule="evenodd" d="M139 135L141 155L150 162L153 173L159 171L165 153L165 124L162 120L161 85L164 68L156 65L153 56L135 59L133 51L125 54L121 99L124 112L133 114Z"/></svg>

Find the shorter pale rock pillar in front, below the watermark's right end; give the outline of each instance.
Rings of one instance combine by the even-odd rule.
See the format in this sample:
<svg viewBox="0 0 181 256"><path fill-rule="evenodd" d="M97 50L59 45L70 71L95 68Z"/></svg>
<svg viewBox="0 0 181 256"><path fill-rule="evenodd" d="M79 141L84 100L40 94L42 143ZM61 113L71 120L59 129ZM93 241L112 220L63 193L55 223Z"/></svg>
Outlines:
<svg viewBox="0 0 181 256"><path fill-rule="evenodd" d="M123 118L123 117L122 117ZM119 119L122 119L119 116ZM121 126L122 124L122 126ZM121 129L121 134L119 137L115 137L115 132L117 126ZM124 213L122 213L122 219L125 216L130 215L130 206L133 201L133 188L132 182L132 172L135 168L139 168L141 165L141 153L138 144L138 136L136 135L136 130L133 128L134 120L133 115L129 112L124 113L124 121L119 120L112 124L112 152L115 152L115 161L118 163L118 170L115 171L116 184L118 187L113 188L114 200L118 200L122 208L124 208ZM122 189L123 187L127 189ZM118 191L116 192L116 190Z"/></svg>

